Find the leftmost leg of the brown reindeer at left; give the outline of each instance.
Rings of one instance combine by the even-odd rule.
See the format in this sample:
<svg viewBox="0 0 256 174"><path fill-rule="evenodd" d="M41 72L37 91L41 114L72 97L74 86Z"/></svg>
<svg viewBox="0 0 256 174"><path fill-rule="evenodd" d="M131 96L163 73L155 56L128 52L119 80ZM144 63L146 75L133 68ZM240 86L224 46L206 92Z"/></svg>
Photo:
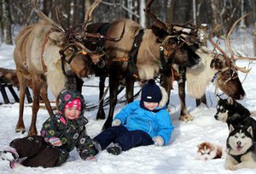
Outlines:
<svg viewBox="0 0 256 174"><path fill-rule="evenodd" d="M17 77L19 80L19 86L20 86L20 105L19 105L19 120L15 127L15 132L25 132L25 125L23 121L23 111L24 111L24 99L25 99L25 93L26 93L26 80L24 76L21 74L20 71L17 70Z"/></svg>

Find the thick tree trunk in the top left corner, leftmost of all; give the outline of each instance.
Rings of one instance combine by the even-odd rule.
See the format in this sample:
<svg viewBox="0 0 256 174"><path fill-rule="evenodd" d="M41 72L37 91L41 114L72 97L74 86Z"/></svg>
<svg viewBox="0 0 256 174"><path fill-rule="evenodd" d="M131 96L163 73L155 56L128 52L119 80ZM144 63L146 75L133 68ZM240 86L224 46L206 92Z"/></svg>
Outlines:
<svg viewBox="0 0 256 174"><path fill-rule="evenodd" d="M3 42L13 44L9 0L3 0Z"/></svg>

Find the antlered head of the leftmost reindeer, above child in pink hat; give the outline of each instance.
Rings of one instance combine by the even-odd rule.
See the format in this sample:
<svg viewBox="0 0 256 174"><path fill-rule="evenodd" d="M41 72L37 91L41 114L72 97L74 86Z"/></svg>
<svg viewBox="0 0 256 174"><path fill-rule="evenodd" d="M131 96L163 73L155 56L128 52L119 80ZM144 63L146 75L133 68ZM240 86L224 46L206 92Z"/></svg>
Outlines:
<svg viewBox="0 0 256 174"><path fill-rule="evenodd" d="M90 8L87 10L86 14L84 15L84 22L79 25L75 25L69 29L65 28L61 23L61 17L58 8L56 8L56 16L58 23L55 23L55 21L49 19L37 6L37 3L33 3L32 7L34 11L38 14L38 16L53 26L54 31L49 33L49 40L53 42L57 47L60 48L60 54L61 54L61 68L63 70L63 73L66 74L64 65L71 64L73 61L73 58L77 58L79 60L76 60L75 62L79 62L81 64L71 65L71 68L74 72L78 73L78 76L86 76L86 73L90 73L90 70L83 70L82 67L84 66L84 69L89 68L88 65L91 62L96 64L99 62L99 60L102 57L102 48L103 45L97 45L96 49L90 49L90 47L85 47L87 44L92 44L91 38L94 39L100 39L100 40L108 40L113 42L118 42L122 36L124 35L125 30L125 24L124 29L119 36L119 38L110 38L107 36L102 36L99 33L88 33L86 32L87 25L90 23L90 16L93 12L93 10L96 8L96 6L101 3L101 0L96 0ZM85 60L83 60L85 59ZM90 59L90 60L88 60ZM80 67L80 68L78 68Z"/></svg>

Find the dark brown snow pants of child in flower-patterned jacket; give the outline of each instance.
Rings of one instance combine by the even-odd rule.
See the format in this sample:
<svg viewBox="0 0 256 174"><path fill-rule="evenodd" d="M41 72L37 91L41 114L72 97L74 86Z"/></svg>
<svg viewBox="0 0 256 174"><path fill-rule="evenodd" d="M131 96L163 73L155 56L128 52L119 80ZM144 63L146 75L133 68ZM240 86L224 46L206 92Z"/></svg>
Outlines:
<svg viewBox="0 0 256 174"><path fill-rule="evenodd" d="M26 157L26 160L21 162L22 166L61 166L59 150L50 147L41 136L17 138L9 143L9 146L16 149L20 159Z"/></svg>

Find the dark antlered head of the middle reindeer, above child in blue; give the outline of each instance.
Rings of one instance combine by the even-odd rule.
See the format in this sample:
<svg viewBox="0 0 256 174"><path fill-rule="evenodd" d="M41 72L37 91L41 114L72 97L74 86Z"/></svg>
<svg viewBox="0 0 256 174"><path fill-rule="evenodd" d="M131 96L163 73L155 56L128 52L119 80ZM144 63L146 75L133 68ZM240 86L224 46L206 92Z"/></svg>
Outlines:
<svg viewBox="0 0 256 174"><path fill-rule="evenodd" d="M164 49L164 54L168 61L177 65L185 65L189 68L198 65L200 57L195 53L195 50L201 46L199 36L199 28L207 26L192 26L191 21L185 24L166 23L157 18L150 12L150 6L154 0L148 0L145 13L153 20L152 31L161 42L161 47Z"/></svg>

